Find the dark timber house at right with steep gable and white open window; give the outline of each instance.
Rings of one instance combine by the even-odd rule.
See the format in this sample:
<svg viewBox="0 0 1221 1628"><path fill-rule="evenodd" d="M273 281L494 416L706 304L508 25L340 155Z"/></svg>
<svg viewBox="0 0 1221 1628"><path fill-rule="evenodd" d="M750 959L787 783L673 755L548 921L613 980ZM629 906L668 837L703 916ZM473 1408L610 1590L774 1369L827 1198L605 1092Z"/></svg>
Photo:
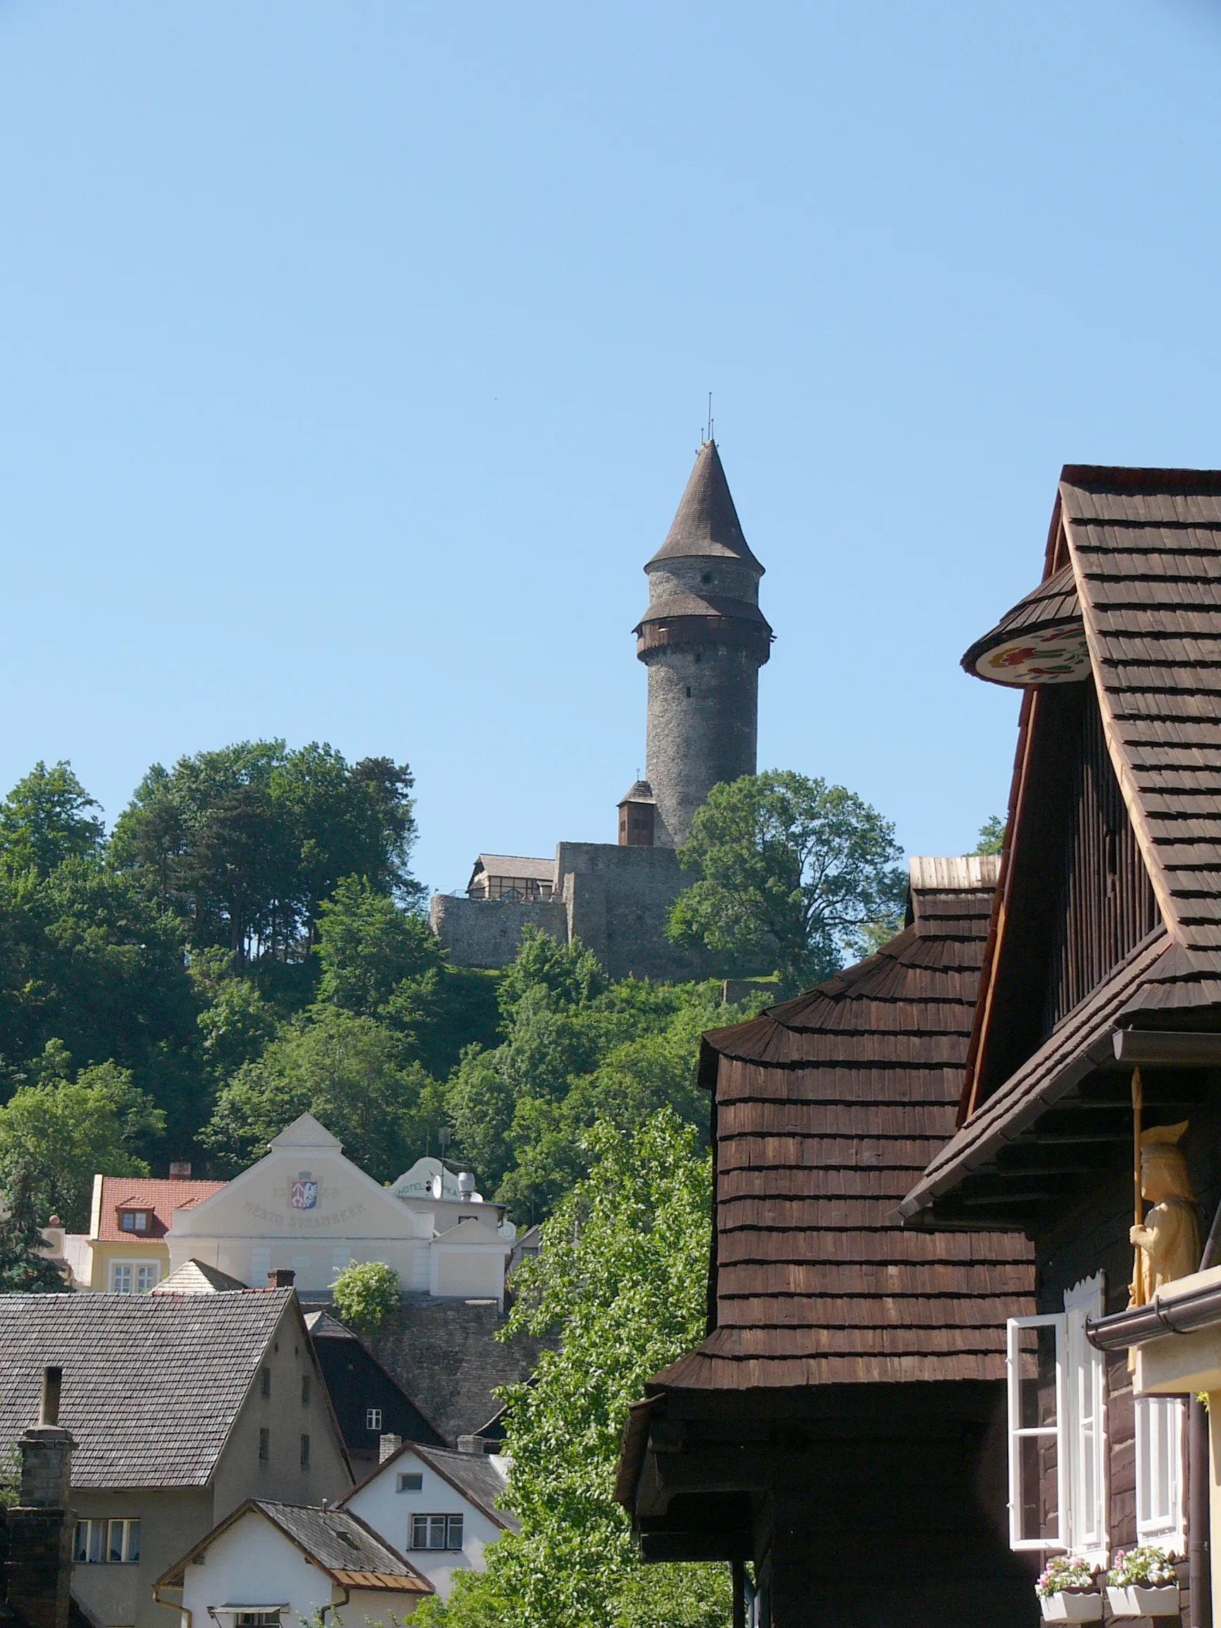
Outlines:
<svg viewBox="0 0 1221 1628"><path fill-rule="evenodd" d="M1040 588L964 664L1026 695L961 1128L900 1208L1035 1247L1039 1314L1008 1333L1011 1547L1104 1566L1156 1543L1203 1628L1218 1490L1193 1395L1216 1444L1221 1275L1190 1271L1188 1234L1221 1193L1221 472L1065 469ZM1184 1258L1130 1306L1151 1138L1185 1156Z"/></svg>

